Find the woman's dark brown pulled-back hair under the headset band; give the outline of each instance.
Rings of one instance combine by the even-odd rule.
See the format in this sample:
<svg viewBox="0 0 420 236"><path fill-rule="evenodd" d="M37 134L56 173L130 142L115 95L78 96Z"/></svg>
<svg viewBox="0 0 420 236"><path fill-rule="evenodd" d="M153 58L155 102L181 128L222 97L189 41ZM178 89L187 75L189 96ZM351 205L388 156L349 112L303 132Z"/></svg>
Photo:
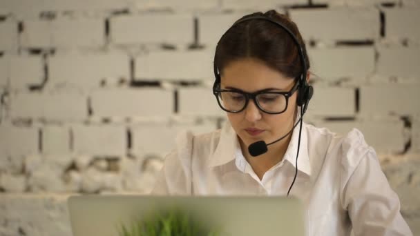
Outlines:
<svg viewBox="0 0 420 236"><path fill-rule="evenodd" d="M296 23L275 10L248 14L241 19L254 16L268 17L291 30L302 46L309 69L305 43ZM285 77L295 78L302 72L298 48L292 37L280 26L261 19L251 19L231 27L216 46L214 63L222 74L229 63L245 58L258 59Z"/></svg>

